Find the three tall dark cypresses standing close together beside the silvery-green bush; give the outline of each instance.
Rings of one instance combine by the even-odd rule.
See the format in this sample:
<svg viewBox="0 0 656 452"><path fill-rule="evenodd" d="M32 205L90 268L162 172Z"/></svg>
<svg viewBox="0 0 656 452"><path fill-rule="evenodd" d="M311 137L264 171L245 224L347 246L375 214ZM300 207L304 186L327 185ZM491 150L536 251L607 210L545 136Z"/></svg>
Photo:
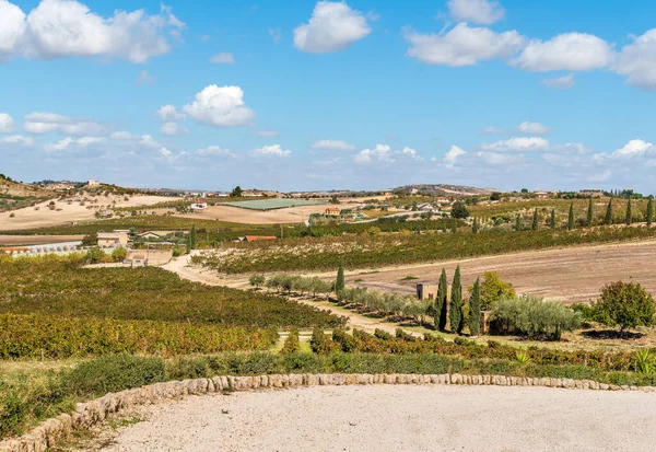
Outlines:
<svg viewBox="0 0 656 452"><path fill-rule="evenodd" d="M469 297L469 332L472 336L477 336L481 332L481 287L480 279L477 279ZM446 279L446 270L442 269L440 283L437 286L437 297L435 298L435 328L440 331L446 329L448 322L452 333L462 334L465 328L465 316L462 309L465 302L462 300L462 282L460 280L460 266L456 268L454 280L452 282L450 301L448 300L448 281Z"/></svg>

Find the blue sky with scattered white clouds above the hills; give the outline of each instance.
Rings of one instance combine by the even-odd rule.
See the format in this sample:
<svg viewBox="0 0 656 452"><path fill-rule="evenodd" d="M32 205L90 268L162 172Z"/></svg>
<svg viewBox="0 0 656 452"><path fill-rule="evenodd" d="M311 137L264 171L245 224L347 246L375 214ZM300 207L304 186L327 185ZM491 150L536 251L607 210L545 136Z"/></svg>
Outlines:
<svg viewBox="0 0 656 452"><path fill-rule="evenodd" d="M655 192L654 18L645 0L0 0L0 172Z"/></svg>

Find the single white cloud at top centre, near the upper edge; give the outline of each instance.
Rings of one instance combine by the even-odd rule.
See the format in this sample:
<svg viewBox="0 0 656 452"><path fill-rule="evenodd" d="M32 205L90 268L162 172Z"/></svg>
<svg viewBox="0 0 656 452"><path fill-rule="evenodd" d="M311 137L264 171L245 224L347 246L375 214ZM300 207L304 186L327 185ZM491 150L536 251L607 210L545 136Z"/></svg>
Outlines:
<svg viewBox="0 0 656 452"><path fill-rule="evenodd" d="M294 30L294 47L309 54L343 50L371 33L366 18L345 2L317 2L309 22Z"/></svg>

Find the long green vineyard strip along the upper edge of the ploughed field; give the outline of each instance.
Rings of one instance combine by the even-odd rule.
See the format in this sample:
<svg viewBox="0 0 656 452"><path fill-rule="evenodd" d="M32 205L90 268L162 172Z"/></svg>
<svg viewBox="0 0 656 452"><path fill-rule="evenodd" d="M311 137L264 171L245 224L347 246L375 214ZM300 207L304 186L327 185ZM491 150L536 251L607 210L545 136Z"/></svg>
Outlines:
<svg viewBox="0 0 656 452"><path fill-rule="evenodd" d="M286 239L276 243L251 243L248 247L224 245L220 257L206 253L195 262L218 271L332 270L340 263L347 268L420 264L573 246L656 237L656 229L601 227L573 231L511 231L432 233L421 235L380 234L339 237Z"/></svg>

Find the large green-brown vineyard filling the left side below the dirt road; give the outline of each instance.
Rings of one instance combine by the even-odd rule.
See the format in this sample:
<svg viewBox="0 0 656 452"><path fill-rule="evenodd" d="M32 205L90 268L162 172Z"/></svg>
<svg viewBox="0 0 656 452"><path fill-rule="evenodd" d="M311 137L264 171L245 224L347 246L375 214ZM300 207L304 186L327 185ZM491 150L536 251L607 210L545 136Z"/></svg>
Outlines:
<svg viewBox="0 0 656 452"><path fill-rule="evenodd" d="M0 280L0 358L266 349L278 327L343 324L281 297L207 287L152 267L2 259Z"/></svg>

